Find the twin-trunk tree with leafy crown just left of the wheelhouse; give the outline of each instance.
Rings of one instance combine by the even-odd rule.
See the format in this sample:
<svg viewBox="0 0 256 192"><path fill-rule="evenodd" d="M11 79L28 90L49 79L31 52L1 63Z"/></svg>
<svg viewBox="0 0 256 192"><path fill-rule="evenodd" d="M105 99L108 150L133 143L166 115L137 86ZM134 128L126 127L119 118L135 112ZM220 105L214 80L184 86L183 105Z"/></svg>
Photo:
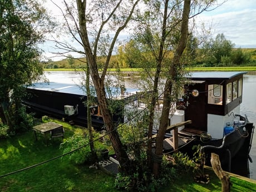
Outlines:
<svg viewBox="0 0 256 192"><path fill-rule="evenodd" d="M152 74L151 105L149 107L149 129L147 159L151 165L151 132L154 119L154 110L159 97L160 77L165 74L164 106L160 118L159 130L156 138L156 150L154 159L154 174L159 173L160 159L163 155L163 140L166 127L169 122L170 106L177 99L179 87L181 87L183 71L183 52L189 36L189 19L208 10L213 1L146 1L149 8L140 17L140 26L137 27L135 39L139 42L141 50L148 58L154 61L154 73L149 72L149 66L145 66L147 74ZM216 7L220 4L216 4ZM190 9L192 10L190 12ZM192 28L192 27L191 27ZM174 53L172 55L171 53ZM144 60L145 57L141 57ZM145 61L145 60L144 60Z"/></svg>

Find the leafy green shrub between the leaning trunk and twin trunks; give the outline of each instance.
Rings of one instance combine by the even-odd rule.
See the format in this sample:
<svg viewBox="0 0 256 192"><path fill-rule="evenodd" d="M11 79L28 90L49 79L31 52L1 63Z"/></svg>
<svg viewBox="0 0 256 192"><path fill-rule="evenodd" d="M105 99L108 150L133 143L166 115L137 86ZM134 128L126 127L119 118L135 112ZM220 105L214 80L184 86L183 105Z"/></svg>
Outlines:
<svg viewBox="0 0 256 192"><path fill-rule="evenodd" d="M157 182L146 165L146 142L143 137L146 133L145 124L122 125L119 135L129 154L129 173L119 173L115 179L115 186L125 191L155 191ZM136 126L134 126L136 124ZM144 126L143 126L144 125Z"/></svg>

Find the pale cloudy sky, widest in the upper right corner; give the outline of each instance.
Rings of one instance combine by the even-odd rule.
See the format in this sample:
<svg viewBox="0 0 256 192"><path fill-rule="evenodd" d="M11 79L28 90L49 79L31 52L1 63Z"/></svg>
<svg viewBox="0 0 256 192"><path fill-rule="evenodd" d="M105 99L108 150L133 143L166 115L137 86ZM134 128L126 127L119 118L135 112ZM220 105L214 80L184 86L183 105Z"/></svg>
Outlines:
<svg viewBox="0 0 256 192"><path fill-rule="evenodd" d="M57 4L62 2L61 0L53 1ZM46 5L53 14L59 14L56 13L57 8L50 0L47 0ZM223 33L227 40L235 44L235 47L256 48L255 0L228 0L213 11L204 12L197 16L196 22L203 22L206 28L210 27L213 38L219 33ZM40 47L45 51L43 54L45 57L50 57L53 61L63 59L63 57L54 57L55 55L51 53L56 52L53 43L47 41Z"/></svg>

